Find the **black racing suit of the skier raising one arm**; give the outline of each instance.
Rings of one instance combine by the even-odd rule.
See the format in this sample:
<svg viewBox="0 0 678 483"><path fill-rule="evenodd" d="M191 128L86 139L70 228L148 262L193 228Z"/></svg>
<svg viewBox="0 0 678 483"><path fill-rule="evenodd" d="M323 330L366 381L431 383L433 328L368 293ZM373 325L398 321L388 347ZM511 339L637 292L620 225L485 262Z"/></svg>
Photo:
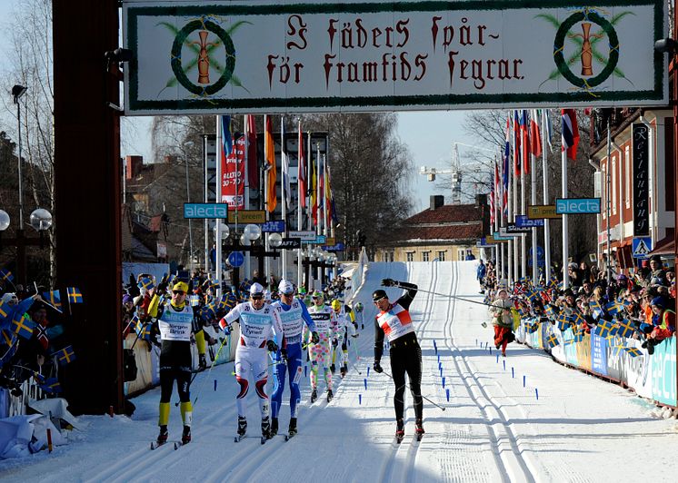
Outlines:
<svg viewBox="0 0 678 483"><path fill-rule="evenodd" d="M400 286L407 291L403 296L391 304L388 311L393 311L400 306L407 312L409 319L410 304L414 300L417 292L417 286L414 283L399 282ZM388 312L387 311L387 312ZM378 363L384 353L384 329L379 325L379 317L385 312L381 312L374 319L374 362ZM410 322L411 323L411 322ZM405 391L405 373L409 377L410 391L414 398L414 417L418 425L424 418L424 403L422 400L422 349L416 339L414 331L410 331L390 340L391 343L391 371L393 373L395 394L394 409L395 419L401 420L404 415L404 391Z"/></svg>

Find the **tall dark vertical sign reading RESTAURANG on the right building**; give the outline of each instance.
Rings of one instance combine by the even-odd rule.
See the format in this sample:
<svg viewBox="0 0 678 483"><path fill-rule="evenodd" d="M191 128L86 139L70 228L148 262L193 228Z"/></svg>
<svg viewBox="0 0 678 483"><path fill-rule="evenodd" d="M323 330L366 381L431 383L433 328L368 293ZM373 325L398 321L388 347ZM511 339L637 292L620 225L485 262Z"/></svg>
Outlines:
<svg viewBox="0 0 678 483"><path fill-rule="evenodd" d="M648 215L648 129L643 123L633 124L633 236L650 234Z"/></svg>

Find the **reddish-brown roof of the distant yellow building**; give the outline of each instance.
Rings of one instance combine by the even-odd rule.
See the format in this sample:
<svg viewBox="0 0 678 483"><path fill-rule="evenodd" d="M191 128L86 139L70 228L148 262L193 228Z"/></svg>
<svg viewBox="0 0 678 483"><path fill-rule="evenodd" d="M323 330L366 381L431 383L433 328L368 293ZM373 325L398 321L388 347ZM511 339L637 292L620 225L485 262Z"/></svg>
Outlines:
<svg viewBox="0 0 678 483"><path fill-rule="evenodd" d="M397 243L444 243L477 240L483 237L483 206L446 204L411 216L395 233Z"/></svg>

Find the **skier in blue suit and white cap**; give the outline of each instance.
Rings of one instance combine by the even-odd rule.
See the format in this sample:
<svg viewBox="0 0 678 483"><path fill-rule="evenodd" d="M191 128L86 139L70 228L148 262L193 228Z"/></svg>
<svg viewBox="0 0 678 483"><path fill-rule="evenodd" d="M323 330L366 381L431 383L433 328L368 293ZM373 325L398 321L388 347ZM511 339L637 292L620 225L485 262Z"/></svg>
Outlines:
<svg viewBox="0 0 678 483"><path fill-rule="evenodd" d="M271 436L278 432L278 416L283 402L285 370L290 378L290 426L289 435L296 434L296 405L301 398L299 380L302 375L302 331L305 327L311 331L311 341L315 344L320 338L315 331L315 323L308 313L303 301L294 297L294 284L282 280L278 283L280 300L274 301L273 307L283 323L284 340L287 343L287 358L282 364L275 366L278 386L271 395ZM278 352L277 360L281 359Z"/></svg>

